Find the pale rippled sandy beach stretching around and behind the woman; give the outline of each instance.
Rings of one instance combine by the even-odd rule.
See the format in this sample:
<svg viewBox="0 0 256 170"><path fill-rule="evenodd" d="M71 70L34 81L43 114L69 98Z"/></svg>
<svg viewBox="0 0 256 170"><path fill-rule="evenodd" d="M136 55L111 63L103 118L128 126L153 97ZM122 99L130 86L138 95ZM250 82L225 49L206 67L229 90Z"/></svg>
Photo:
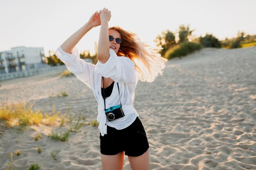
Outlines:
<svg viewBox="0 0 256 170"><path fill-rule="evenodd" d="M75 76L55 73L0 84L0 106L34 102L51 112L55 104L60 115L70 106L86 123L97 118L92 91ZM68 96L56 97L61 91ZM169 60L155 82L138 82L134 107L148 136L151 170L256 170L256 46L205 48ZM31 163L42 170L101 170L97 127L84 125L68 141L47 137L67 127L30 127L0 127L0 170L8 168L10 152L16 170L28 170ZM38 133L42 137L35 141ZM127 156L123 169L131 170Z"/></svg>

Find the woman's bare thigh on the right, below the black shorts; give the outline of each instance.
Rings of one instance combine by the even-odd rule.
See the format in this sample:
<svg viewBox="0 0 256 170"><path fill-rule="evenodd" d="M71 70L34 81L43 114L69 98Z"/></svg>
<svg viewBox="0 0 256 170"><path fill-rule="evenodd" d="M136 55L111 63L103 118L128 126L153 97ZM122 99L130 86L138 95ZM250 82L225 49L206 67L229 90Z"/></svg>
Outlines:
<svg viewBox="0 0 256 170"><path fill-rule="evenodd" d="M149 149L139 157L128 157L132 170L149 170Z"/></svg>

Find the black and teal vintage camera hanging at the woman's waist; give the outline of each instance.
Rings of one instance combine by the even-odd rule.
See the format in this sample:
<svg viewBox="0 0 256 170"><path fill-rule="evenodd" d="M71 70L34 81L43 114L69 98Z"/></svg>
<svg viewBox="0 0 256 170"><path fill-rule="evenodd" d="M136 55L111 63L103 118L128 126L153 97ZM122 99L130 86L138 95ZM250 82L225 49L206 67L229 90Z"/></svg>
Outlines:
<svg viewBox="0 0 256 170"><path fill-rule="evenodd" d="M125 116L122 106L120 104L117 106L111 106L110 108L105 109L105 114L108 118L108 121L113 121Z"/></svg>

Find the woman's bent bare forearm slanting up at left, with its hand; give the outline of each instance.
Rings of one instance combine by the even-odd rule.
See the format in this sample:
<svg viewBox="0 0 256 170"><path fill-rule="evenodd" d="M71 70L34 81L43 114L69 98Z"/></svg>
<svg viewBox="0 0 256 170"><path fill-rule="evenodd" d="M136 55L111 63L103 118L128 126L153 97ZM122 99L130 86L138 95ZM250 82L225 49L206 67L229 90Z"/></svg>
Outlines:
<svg viewBox="0 0 256 170"><path fill-rule="evenodd" d="M101 25L101 20L98 11L96 11L86 24L84 24L79 30L77 30L65 42L63 42L63 44L61 44L61 48L66 53L71 54L72 49L74 49L74 46L76 46L76 44L81 40L81 38L83 38L83 36L93 27L99 25Z"/></svg>

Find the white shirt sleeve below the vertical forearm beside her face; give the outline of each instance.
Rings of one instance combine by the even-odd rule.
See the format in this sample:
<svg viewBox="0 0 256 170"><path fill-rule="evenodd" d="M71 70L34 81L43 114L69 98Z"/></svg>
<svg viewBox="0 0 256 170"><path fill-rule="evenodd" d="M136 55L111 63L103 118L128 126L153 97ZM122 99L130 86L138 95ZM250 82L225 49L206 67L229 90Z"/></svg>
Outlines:
<svg viewBox="0 0 256 170"><path fill-rule="evenodd" d="M134 62L128 57L117 56L113 49L110 49L110 57L106 63L98 60L94 71L103 77L110 77L115 82L136 83Z"/></svg>

